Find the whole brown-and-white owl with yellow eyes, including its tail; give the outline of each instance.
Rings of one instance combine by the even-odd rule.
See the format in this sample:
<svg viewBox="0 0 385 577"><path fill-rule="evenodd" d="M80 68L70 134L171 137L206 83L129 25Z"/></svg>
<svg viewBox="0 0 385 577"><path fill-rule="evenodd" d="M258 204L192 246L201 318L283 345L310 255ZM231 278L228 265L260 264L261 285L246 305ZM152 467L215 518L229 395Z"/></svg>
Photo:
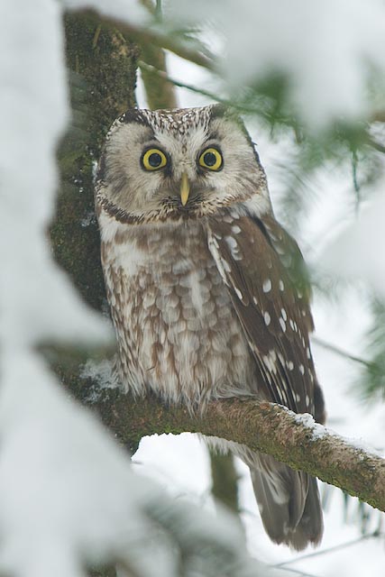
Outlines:
<svg viewBox="0 0 385 577"><path fill-rule="evenodd" d="M303 259L231 109L122 114L99 162L96 214L125 389L190 411L214 398L264 399L325 421ZM249 466L274 542L300 550L320 541L316 479L243 445L211 443Z"/></svg>

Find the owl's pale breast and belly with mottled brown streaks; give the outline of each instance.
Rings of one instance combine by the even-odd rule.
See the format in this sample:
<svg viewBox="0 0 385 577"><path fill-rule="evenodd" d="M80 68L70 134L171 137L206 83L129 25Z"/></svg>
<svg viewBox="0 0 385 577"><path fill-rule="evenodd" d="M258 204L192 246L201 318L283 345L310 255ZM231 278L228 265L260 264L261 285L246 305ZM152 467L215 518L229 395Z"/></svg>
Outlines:
<svg viewBox="0 0 385 577"><path fill-rule="evenodd" d="M250 391L252 357L203 224L126 227L102 259L124 386L190 407Z"/></svg>

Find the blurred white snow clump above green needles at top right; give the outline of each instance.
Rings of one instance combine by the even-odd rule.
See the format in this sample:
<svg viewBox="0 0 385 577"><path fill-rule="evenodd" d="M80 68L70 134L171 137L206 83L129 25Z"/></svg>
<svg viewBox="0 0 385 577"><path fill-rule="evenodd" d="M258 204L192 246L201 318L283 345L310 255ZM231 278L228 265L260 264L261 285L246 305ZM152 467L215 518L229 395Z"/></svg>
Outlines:
<svg viewBox="0 0 385 577"><path fill-rule="evenodd" d="M170 0L176 27L220 35L219 70L230 87L272 72L289 78L294 110L311 129L367 115L370 69L385 73L385 14L380 0ZM225 54L225 57L222 55Z"/></svg>

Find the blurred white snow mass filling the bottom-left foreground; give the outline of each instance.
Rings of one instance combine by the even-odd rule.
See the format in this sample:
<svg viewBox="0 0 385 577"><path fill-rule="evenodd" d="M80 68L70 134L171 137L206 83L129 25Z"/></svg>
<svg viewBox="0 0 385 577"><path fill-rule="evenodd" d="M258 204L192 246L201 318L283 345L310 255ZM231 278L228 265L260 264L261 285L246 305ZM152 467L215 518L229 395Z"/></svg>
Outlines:
<svg viewBox="0 0 385 577"><path fill-rule="evenodd" d="M207 575L221 563L221 575L255 574L229 514L171 500L133 473L128 455L66 398L37 354L7 355L2 373L0 572L80 576L83 565L119 559L143 577L173 577L179 547L192 575L207 543Z"/></svg>

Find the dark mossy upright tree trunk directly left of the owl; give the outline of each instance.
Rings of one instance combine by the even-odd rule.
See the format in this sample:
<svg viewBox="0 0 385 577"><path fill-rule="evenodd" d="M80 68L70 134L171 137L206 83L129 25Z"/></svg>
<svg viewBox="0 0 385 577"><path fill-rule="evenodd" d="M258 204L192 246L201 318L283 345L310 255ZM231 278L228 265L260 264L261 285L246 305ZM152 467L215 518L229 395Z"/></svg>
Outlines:
<svg viewBox="0 0 385 577"><path fill-rule="evenodd" d="M56 260L83 298L100 310L105 287L100 264L93 171L116 116L135 105L138 49L93 15L64 20L72 120L58 152L61 186L50 228Z"/></svg>

